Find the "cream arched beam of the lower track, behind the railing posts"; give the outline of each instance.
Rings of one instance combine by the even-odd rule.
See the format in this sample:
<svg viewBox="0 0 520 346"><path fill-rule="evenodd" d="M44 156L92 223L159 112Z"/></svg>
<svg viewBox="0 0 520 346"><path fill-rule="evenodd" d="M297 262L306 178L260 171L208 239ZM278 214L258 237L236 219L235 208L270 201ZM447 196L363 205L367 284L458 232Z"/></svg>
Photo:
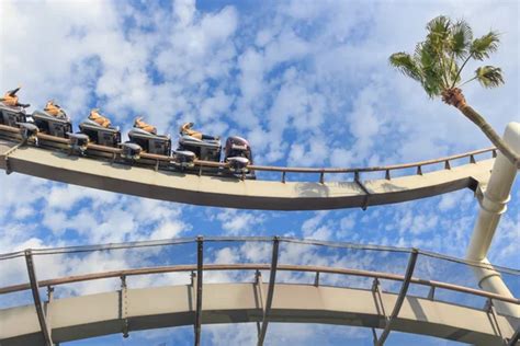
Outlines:
<svg viewBox="0 0 520 346"><path fill-rule="evenodd" d="M267 291L268 284L262 284L261 289ZM265 301L259 300L262 296L257 284L204 284L203 290L203 324L262 321ZM55 299L47 304L53 341L192 325L195 314L192 295L188 285ZM269 321L381 328L385 325L381 302L388 310L396 300L397 295L381 292L381 299L375 299L372 291L363 289L278 284ZM0 310L0 320L2 346L42 343L33 305ZM463 343L500 345L504 338L513 335L519 324L515 318L498 315L494 320L485 311L406 297L392 327Z"/></svg>

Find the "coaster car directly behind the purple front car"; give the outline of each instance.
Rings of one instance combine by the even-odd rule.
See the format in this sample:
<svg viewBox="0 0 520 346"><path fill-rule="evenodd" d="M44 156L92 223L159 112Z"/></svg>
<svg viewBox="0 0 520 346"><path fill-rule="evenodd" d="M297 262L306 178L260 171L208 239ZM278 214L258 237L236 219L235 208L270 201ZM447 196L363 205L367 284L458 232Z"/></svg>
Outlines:
<svg viewBox="0 0 520 346"><path fill-rule="evenodd" d="M197 139L183 135L174 151L174 164L180 168L192 168L195 159L221 162L222 146L218 139Z"/></svg>

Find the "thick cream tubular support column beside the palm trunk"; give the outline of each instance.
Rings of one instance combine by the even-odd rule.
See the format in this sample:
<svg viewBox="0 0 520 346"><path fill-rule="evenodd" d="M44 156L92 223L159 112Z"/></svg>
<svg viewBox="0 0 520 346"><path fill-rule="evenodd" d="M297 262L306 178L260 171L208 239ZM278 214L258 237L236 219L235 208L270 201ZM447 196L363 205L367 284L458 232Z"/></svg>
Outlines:
<svg viewBox="0 0 520 346"><path fill-rule="evenodd" d="M516 152L520 152L520 123L508 124L504 140ZM493 269L486 256L500 217L507 210L507 203L510 198L509 194L516 175L517 169L515 165L498 152L489 182L484 193L478 196L481 211L466 253L467 260L481 262L488 267L475 268L474 270L481 288L507 297L512 297L511 292L501 279L500 274ZM479 191L477 191L478 193ZM498 312L520 318L520 307L500 301L494 301L494 303Z"/></svg>

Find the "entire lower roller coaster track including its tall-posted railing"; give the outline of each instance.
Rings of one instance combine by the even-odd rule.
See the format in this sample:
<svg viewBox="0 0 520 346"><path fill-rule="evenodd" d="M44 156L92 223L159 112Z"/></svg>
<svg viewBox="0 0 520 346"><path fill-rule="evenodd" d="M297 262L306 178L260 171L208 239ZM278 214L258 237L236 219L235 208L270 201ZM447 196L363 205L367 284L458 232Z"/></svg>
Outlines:
<svg viewBox="0 0 520 346"><path fill-rule="evenodd" d="M272 246L271 263L208 263L204 245L208 243L257 242ZM113 272L91 273L47 280L36 279L36 264L43 256L93 253L98 251L124 251L140 247L146 250L179 244L193 244L196 252L194 264L156 267L138 267ZM328 250L355 250L365 252L400 253L408 255L404 274L372 272L359 268L314 266L280 263L285 261L280 253L282 245L326 246ZM161 247L162 246L162 247ZM211 246L211 245L210 245ZM389 256L389 257L388 257ZM418 260L420 257L420 260ZM342 243L301 241L286 238L196 238L100 246L76 246L0 255L2 261L24 258L30 282L0 288L0 297L31 290L34 304L0 310L0 344L52 345L99 335L122 333L127 336L133 331L193 325L195 345L200 342L203 324L256 322L258 345L262 345L270 322L326 323L371 327L374 344L383 345L392 331L437 336L440 338L472 343L476 345L516 345L520 319L498 314L494 301L520 304L516 298L501 297L487 291L417 277L416 263L436 258L437 265L456 262L464 266L481 266L416 249L398 249ZM388 261L391 255L385 256ZM406 260L405 260L406 262ZM353 264L355 266L355 264ZM382 266L383 267L383 266ZM388 268L388 267L386 267ZM205 276L213 272L250 273L249 280L231 282L205 282ZM442 269L441 269L442 270ZM520 272L500 268L502 273L520 277ZM262 280L262 272L270 275ZM302 276L291 282L276 282L276 273L314 275L314 282L302 282ZM166 273L191 273L191 284L166 287L129 288L127 278ZM364 278L372 281L368 288L332 285L320 279L321 275L343 278ZM233 275L230 276L233 277ZM97 295L55 298L47 301L39 297L41 288L48 292L55 288L80 281L116 278L121 289ZM308 281L308 280L307 280ZM386 290L385 282L394 282L400 288ZM411 296L408 287L429 288L428 297ZM436 289L457 292L470 297L487 299L484 309L462 305L460 301L441 301L436 298ZM457 296L460 297L460 296ZM78 313L81 312L81 313ZM376 330L381 330L377 333ZM377 335L380 334L380 335Z"/></svg>

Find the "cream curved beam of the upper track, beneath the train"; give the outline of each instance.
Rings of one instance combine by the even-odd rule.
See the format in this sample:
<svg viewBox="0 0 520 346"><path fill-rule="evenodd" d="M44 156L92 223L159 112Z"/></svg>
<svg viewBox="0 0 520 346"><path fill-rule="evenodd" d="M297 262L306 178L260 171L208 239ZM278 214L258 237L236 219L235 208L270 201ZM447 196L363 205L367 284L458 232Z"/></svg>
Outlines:
<svg viewBox="0 0 520 346"><path fill-rule="evenodd" d="M194 205L268 210L320 210L385 205L487 182L493 159L392 180L272 182L154 171L67 155L0 140L0 169L53 181Z"/></svg>

